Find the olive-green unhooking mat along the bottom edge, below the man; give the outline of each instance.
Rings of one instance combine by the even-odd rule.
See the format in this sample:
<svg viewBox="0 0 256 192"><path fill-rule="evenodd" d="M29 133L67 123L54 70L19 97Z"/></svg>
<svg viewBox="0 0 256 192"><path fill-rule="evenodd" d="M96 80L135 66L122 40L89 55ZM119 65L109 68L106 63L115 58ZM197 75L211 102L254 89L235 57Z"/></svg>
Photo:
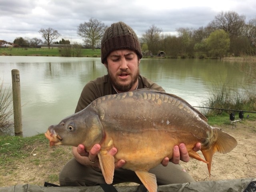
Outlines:
<svg viewBox="0 0 256 192"><path fill-rule="evenodd" d="M138 186L115 186L118 192L136 192ZM158 192L256 192L256 178L200 181L158 186ZM0 192L104 192L100 186L44 187L30 184L0 187Z"/></svg>

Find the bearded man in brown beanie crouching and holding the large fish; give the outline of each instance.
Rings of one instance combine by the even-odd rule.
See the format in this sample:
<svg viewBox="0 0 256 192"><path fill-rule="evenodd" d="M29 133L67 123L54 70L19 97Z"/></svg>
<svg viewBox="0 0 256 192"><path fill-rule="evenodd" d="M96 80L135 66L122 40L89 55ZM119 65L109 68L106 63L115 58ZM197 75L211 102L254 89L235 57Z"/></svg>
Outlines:
<svg viewBox="0 0 256 192"><path fill-rule="evenodd" d="M118 22L107 28L101 42L101 62L106 66L108 75L90 81L84 86L75 112L86 108L96 98L108 94L127 92L140 88L164 91L162 87L140 75L139 64L141 58L142 52L138 37L130 26L123 22ZM194 150L200 150L200 143L196 144ZM74 158L60 172L60 185L94 186L105 184L97 158L99 151L99 144L95 144L90 152L86 152L82 144L78 145L78 147L73 147ZM108 153L114 156L117 151L118 149L112 148ZM178 164L180 160L184 162L189 160L184 144L174 146L173 158L170 160L172 163L168 163L169 158L166 157L162 161L162 165L149 171L156 175L158 185L194 181ZM124 164L125 160L119 160L115 163L112 184L122 182L141 184L135 172L122 169Z"/></svg>

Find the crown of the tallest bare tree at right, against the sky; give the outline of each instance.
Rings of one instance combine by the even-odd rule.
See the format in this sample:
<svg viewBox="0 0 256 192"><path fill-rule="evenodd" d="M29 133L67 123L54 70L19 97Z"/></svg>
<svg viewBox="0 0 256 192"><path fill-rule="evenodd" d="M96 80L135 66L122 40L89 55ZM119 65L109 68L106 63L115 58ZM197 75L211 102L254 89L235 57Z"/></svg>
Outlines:
<svg viewBox="0 0 256 192"><path fill-rule="evenodd" d="M231 36L239 36L245 24L245 16L234 11L220 12L212 21L212 26L223 29Z"/></svg>

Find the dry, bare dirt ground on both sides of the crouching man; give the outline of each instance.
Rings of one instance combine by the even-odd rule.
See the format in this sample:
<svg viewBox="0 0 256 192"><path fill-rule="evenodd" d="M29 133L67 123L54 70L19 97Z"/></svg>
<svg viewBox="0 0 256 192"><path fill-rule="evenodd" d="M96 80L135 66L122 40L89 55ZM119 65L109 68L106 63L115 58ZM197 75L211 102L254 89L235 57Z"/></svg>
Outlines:
<svg viewBox="0 0 256 192"><path fill-rule="evenodd" d="M256 121L245 120L232 125L222 126L238 141L238 146L228 154L216 153L213 157L211 177L206 164L190 159L182 166L196 180L227 180L256 178ZM60 146L52 150L48 141L45 144L28 146L29 157L1 168L0 186L35 184L42 186L45 181L58 183L58 173L62 166L72 158L71 147Z"/></svg>

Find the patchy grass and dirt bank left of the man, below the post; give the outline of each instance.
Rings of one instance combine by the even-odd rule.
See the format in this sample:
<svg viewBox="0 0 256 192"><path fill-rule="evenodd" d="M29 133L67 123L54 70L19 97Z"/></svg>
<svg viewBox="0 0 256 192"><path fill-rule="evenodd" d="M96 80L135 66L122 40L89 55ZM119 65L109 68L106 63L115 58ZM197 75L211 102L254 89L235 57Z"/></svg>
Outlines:
<svg viewBox="0 0 256 192"><path fill-rule="evenodd" d="M0 186L58 184L61 166L71 158L71 146L50 148L44 134L0 136Z"/></svg>

